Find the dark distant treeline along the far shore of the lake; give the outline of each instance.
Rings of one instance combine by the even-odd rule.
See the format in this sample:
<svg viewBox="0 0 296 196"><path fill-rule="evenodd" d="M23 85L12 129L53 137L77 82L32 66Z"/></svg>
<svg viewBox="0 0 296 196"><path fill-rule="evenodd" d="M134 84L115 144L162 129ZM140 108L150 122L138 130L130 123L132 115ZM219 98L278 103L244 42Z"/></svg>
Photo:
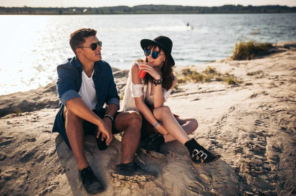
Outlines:
<svg viewBox="0 0 296 196"><path fill-rule="evenodd" d="M0 14L205 14L205 13L288 13L296 7L265 5L199 7L181 5L137 5L134 7L0 7Z"/></svg>

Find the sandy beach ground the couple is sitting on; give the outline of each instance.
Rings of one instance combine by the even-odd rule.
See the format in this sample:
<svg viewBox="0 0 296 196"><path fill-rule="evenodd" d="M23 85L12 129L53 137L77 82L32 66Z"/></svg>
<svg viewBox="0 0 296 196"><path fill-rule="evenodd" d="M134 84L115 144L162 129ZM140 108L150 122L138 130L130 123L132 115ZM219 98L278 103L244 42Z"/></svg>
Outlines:
<svg viewBox="0 0 296 196"><path fill-rule="evenodd" d="M166 105L194 117L191 138L222 155L211 164L190 161L185 146L166 143L165 159L141 150L135 161L157 173L146 184L111 176L121 159L121 134L97 148L86 136L90 166L106 188L102 196L292 196L296 195L296 42L278 43L277 52L254 60L230 58L188 66L229 72L223 81L179 83ZM176 66L178 76L184 66ZM113 70L120 96L128 70ZM0 96L0 195L86 196L72 151L52 125L58 111L55 81L36 90Z"/></svg>

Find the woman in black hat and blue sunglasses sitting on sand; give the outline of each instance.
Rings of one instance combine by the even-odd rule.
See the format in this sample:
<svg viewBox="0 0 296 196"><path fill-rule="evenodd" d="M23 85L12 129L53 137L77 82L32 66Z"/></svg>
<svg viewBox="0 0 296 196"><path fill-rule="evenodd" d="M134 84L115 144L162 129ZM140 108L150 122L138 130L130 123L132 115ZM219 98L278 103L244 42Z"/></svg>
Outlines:
<svg viewBox="0 0 296 196"><path fill-rule="evenodd" d="M172 46L171 39L166 36L141 40L146 60L136 60L130 69L122 109L135 110L143 115L142 138L157 133L142 142L144 153L164 158L160 145L177 139L187 147L192 161L216 161L220 155L210 153L188 136L198 127L196 119L174 115L168 106L163 105L177 84L172 68L175 65ZM139 77L139 71L147 73L143 79Z"/></svg>

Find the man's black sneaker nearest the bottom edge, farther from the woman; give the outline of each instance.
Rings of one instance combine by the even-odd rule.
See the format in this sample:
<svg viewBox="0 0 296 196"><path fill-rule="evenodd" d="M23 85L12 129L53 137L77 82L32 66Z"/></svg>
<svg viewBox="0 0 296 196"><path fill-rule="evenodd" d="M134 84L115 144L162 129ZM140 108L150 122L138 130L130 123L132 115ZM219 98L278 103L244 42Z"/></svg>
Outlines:
<svg viewBox="0 0 296 196"><path fill-rule="evenodd" d="M104 191L102 183L94 174L90 166L82 169L81 171L78 170L78 175L88 194L95 195Z"/></svg>

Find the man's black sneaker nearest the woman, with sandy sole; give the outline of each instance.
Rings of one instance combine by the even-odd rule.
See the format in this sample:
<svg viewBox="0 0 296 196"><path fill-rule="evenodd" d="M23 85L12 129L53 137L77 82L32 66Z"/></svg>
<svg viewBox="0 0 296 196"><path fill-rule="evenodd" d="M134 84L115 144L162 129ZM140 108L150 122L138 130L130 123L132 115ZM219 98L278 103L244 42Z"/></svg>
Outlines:
<svg viewBox="0 0 296 196"><path fill-rule="evenodd" d="M112 176L120 180L146 183L155 180L155 174L142 169L137 163L117 164Z"/></svg>

